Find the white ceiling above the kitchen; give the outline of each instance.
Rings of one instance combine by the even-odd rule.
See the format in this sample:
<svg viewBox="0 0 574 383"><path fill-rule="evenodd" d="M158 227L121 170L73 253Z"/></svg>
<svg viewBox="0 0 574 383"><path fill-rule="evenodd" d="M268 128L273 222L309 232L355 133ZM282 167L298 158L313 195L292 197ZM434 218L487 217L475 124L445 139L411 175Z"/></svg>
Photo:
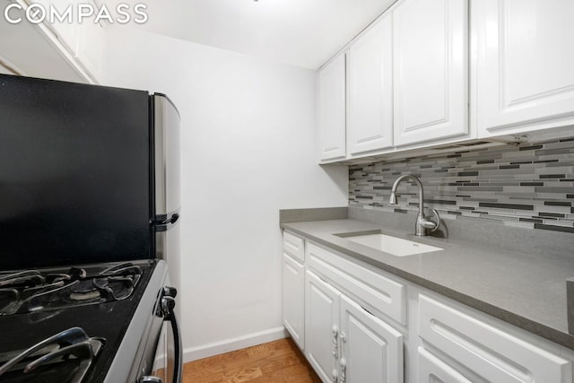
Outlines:
<svg viewBox="0 0 574 383"><path fill-rule="evenodd" d="M119 3L146 4L149 20L136 28L314 69L324 64L394 2L395 0L103 1L109 6Z"/></svg>

